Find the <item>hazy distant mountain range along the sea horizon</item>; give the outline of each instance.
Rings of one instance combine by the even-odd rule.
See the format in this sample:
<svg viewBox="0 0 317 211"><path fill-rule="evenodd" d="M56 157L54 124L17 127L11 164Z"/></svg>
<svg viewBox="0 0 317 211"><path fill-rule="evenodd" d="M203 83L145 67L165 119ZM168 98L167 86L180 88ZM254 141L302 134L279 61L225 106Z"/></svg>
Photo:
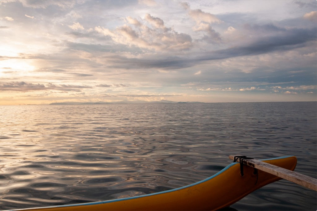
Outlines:
<svg viewBox="0 0 317 211"><path fill-rule="evenodd" d="M49 105L98 105L98 104L150 104L150 103L202 103L202 102L174 102L169 100L144 101L144 100L122 100L118 102L53 102Z"/></svg>

